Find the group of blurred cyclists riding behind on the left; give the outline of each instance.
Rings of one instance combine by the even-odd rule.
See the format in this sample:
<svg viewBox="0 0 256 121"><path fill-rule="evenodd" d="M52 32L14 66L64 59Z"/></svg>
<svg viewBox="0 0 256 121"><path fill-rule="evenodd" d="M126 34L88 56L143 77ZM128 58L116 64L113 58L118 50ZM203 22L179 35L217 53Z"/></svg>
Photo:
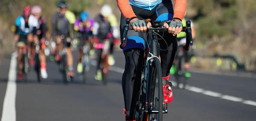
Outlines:
<svg viewBox="0 0 256 121"><path fill-rule="evenodd" d="M55 60L59 61L61 59L60 51L63 49L63 46L67 46L67 64L69 68L68 75L73 76L73 55L70 47L70 43L63 43L61 35L66 37L70 37L70 30L75 30L79 33L80 47L79 47L79 57L78 57L78 65L77 72L81 73L83 71L83 67L81 66L81 56L82 56L82 47L85 42L90 42L92 40L91 45L94 42L102 43L103 39L108 39L110 41L110 49L109 49L109 57L108 63L109 65L113 65L115 60L113 58L113 47L114 40L118 41L119 39L119 29L118 22L116 20L116 16L112 13L112 9L109 5L103 5L100 14L96 15L93 19L89 18L89 14L87 12L81 12L80 18L75 20L75 15L72 12L67 12L67 3L64 1L59 1L57 5L57 12L52 15L51 18L51 27L52 27L52 37L56 43L56 54ZM25 22L23 22L25 21ZM70 24L72 28L70 28ZM23 10L22 16L17 17L16 22L16 31L15 31L15 42L18 42L18 62L19 62L19 79L22 79L22 46L24 43L27 43L28 40L28 52L30 64L33 65L33 54L31 54L32 42L36 40L46 40L50 38L50 34L47 28L47 19L42 15L42 8L40 6L33 6L30 8L26 6ZM73 36L75 32L72 32ZM23 43L23 44L22 44ZM93 46L92 46L93 47ZM92 55L93 49L90 50L90 55ZM42 78L47 78L47 69L46 69L46 55L44 54L44 49L40 48L40 64L41 64L41 76ZM102 50L96 50L96 57L100 57ZM97 58L98 62L96 66L96 80L99 80L99 62L101 58Z"/></svg>

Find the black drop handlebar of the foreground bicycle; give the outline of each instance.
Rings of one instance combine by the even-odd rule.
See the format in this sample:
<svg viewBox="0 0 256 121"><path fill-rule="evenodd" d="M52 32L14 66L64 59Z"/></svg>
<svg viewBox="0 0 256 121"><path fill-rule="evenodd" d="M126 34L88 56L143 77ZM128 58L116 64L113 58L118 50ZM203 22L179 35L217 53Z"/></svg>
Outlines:
<svg viewBox="0 0 256 121"><path fill-rule="evenodd" d="M121 41L121 44L120 44L120 49L125 48L125 45L126 45L126 42L127 42L128 30L133 29L132 26L129 23L130 23L130 18L126 18L125 25L124 25L125 27L122 30L124 33L123 33L122 41ZM161 24L154 23L154 21L152 23L153 23L152 26L149 27L148 30L151 30L153 32L164 32L164 31L166 31L166 28L163 27ZM183 26L183 29L182 29L181 32L186 32L185 50L188 51L190 49L190 46L193 45L192 33L191 33L191 21L190 20L186 21L186 26Z"/></svg>

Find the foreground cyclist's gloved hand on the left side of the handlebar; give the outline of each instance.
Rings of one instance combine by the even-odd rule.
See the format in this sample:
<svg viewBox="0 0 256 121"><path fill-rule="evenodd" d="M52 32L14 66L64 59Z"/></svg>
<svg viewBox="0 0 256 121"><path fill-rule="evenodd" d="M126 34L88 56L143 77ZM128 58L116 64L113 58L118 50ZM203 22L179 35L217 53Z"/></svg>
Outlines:
<svg viewBox="0 0 256 121"><path fill-rule="evenodd" d="M152 26L147 20L140 20L138 18L132 19L130 23L135 32L146 32L147 28Z"/></svg>

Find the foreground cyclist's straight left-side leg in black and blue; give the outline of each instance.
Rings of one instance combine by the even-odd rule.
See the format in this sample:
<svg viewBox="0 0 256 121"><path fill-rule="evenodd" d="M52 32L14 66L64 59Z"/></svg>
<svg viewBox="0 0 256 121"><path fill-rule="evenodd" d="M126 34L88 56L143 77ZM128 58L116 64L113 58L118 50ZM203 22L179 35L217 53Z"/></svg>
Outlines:
<svg viewBox="0 0 256 121"><path fill-rule="evenodd" d="M124 24L125 17L121 16L120 30L123 30L122 27ZM122 31L120 32L120 35L122 38ZM127 43L123 49L125 55L125 71L122 75L122 90L125 100L126 121L135 120L134 109L140 90L145 41L142 37L139 37L139 35L145 36L145 33L139 34L134 30L129 30Z"/></svg>

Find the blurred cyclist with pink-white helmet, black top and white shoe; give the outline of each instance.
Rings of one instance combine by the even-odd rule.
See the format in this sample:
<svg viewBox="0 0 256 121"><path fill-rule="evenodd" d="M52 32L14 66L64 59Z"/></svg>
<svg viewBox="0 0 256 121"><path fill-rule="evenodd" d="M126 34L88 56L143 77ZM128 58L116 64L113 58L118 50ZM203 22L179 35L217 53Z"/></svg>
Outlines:
<svg viewBox="0 0 256 121"><path fill-rule="evenodd" d="M42 8L40 6L33 6L31 8L31 13L38 19L39 29L36 34L38 35L38 40L40 40L40 64L41 64L41 76L42 78L47 78L46 71L46 56L44 53L44 48L41 47L41 43L45 43L46 37L49 38L49 32L47 29L46 17L42 15ZM42 39L43 38L43 39Z"/></svg>

